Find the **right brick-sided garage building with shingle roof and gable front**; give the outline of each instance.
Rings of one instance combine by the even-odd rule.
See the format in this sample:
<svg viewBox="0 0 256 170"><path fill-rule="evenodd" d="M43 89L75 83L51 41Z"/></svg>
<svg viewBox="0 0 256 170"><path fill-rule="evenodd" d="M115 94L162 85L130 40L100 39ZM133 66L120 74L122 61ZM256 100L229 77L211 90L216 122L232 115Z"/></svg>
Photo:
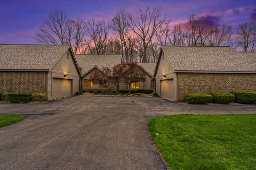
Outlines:
<svg viewBox="0 0 256 170"><path fill-rule="evenodd" d="M256 90L256 53L227 46L162 46L154 76L156 92L172 101L184 101L189 93Z"/></svg>

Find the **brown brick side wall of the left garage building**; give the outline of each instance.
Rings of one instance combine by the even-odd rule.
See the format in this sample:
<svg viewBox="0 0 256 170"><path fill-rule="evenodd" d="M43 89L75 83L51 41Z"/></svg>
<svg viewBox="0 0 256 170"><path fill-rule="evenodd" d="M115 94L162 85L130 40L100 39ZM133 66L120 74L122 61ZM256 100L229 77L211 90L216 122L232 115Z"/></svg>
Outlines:
<svg viewBox="0 0 256 170"><path fill-rule="evenodd" d="M46 92L47 72L0 72L0 92Z"/></svg>

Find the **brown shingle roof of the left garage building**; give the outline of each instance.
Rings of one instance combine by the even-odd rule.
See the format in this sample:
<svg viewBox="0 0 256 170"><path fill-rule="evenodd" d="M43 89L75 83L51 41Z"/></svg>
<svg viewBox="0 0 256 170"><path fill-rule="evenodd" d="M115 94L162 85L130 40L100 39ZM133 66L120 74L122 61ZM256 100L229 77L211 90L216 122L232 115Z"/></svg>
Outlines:
<svg viewBox="0 0 256 170"><path fill-rule="evenodd" d="M69 45L0 44L0 69L49 70Z"/></svg>

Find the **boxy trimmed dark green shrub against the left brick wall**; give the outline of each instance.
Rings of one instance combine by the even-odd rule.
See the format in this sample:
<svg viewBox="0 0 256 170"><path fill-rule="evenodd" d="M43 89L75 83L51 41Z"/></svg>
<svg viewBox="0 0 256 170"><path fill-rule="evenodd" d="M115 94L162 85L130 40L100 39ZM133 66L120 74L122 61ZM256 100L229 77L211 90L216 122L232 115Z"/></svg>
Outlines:
<svg viewBox="0 0 256 170"><path fill-rule="evenodd" d="M32 100L32 94L24 92L9 92L7 95L11 103L28 103Z"/></svg>

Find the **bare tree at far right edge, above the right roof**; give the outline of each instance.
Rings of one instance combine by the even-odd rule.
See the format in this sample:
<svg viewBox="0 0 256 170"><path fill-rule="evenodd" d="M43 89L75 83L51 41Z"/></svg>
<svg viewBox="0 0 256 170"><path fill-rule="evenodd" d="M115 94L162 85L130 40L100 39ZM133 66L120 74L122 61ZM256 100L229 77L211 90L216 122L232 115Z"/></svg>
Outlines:
<svg viewBox="0 0 256 170"><path fill-rule="evenodd" d="M253 27L252 22L245 22L243 24L239 24L235 40L235 48L242 47L243 52L253 51L255 44L254 30L255 28Z"/></svg>

